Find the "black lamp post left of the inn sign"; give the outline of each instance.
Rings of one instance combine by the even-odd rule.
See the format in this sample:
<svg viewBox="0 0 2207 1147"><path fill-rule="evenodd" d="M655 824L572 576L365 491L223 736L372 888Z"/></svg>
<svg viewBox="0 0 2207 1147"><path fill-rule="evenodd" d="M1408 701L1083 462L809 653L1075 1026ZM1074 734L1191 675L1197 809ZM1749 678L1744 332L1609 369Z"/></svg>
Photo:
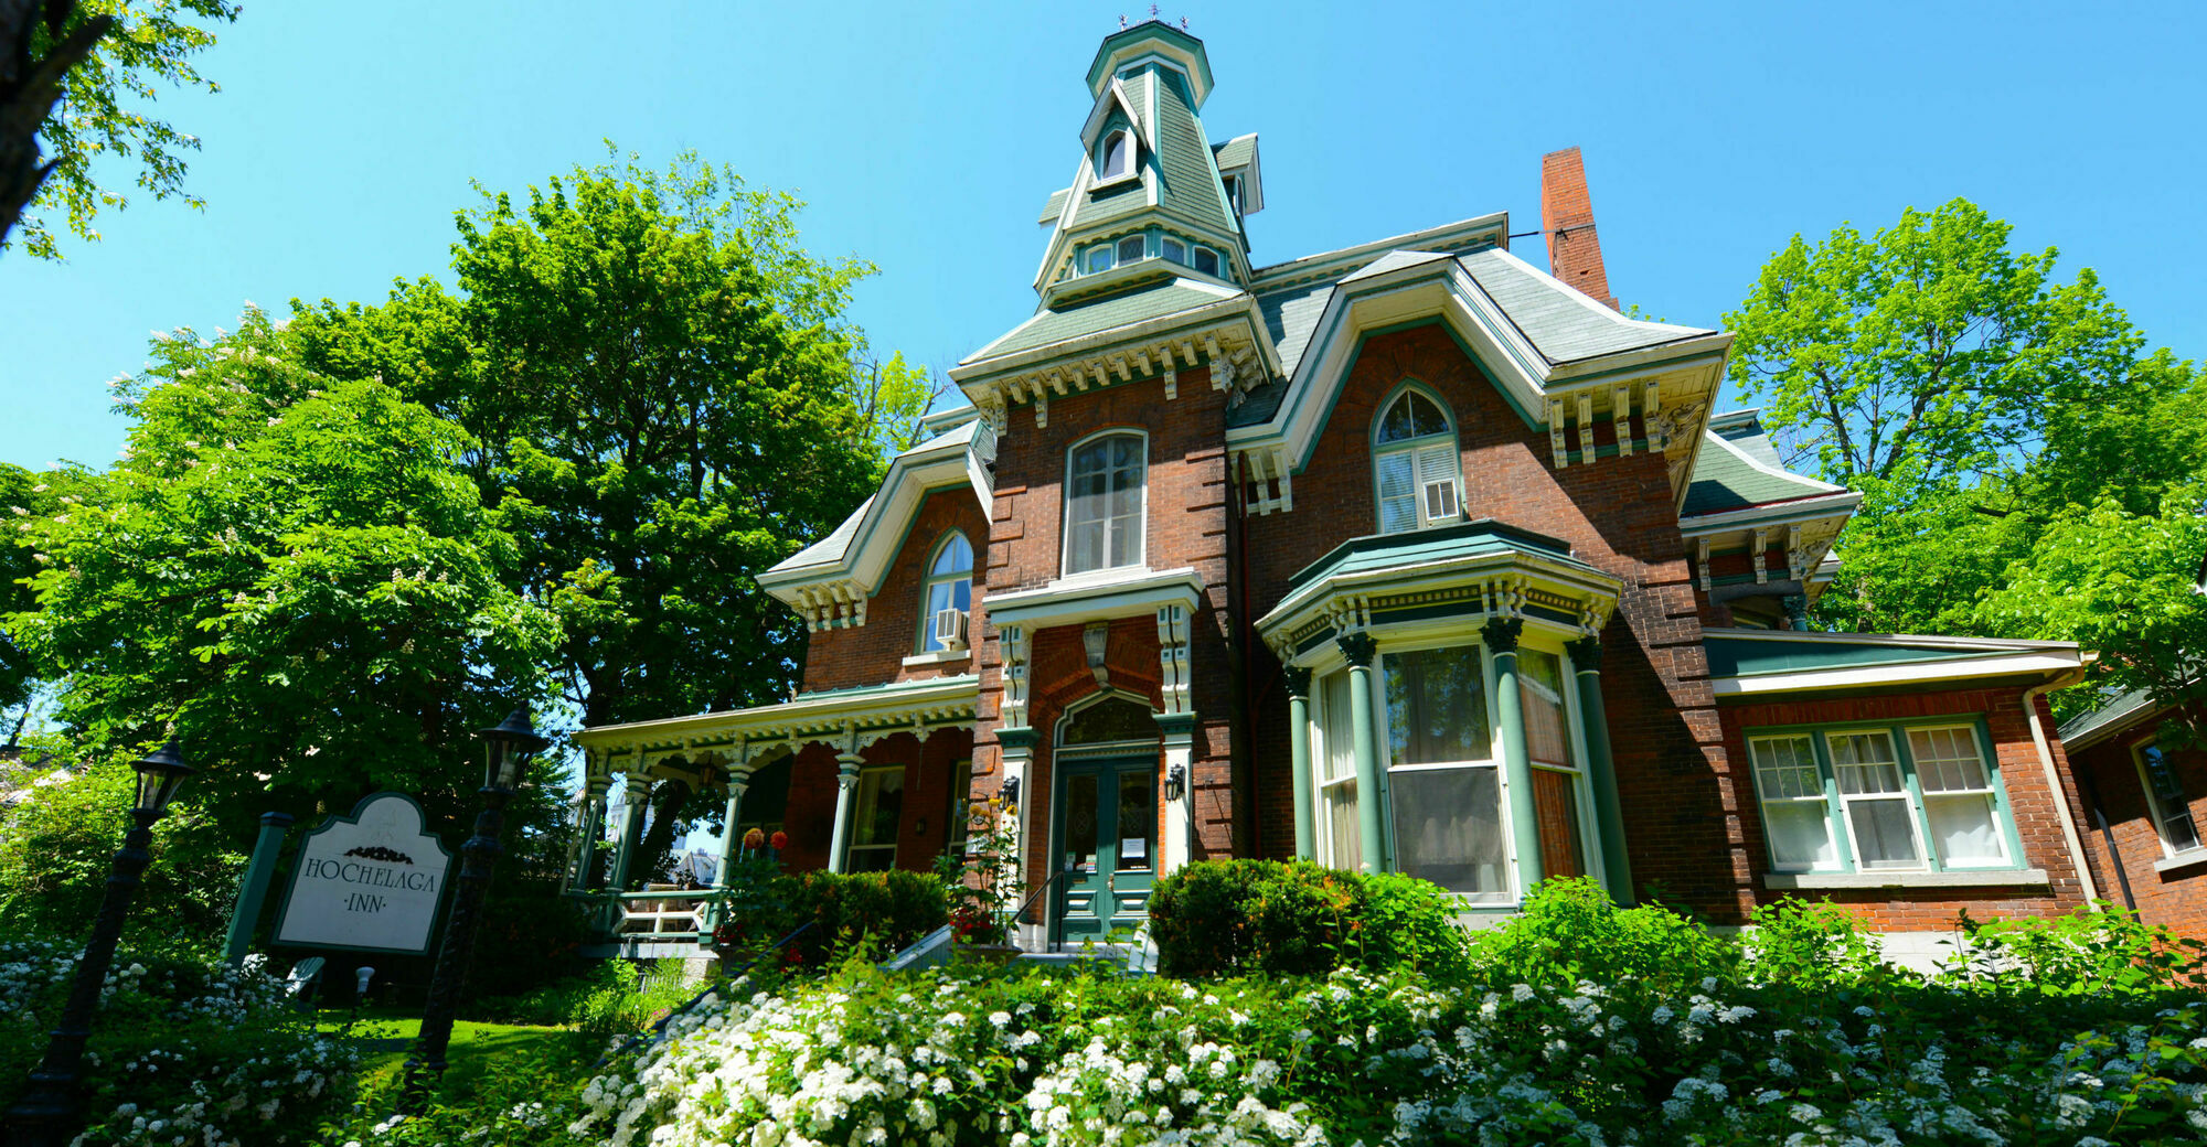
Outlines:
<svg viewBox="0 0 2207 1147"><path fill-rule="evenodd" d="M137 801L130 807L137 827L124 836L124 849L115 854L108 871L108 893L99 900L99 918L93 920L93 935L84 942L84 957L77 960L77 979L68 988L68 1004L62 1006L62 1026L46 1043L46 1059L31 1072L31 1090L7 1110L7 1123L15 1147L60 1147L77 1132L77 1068L84 1063L84 1041L93 1035L93 1008L99 1004L99 988L108 979L108 964L115 962L115 942L124 935L124 913L146 876L152 854L152 825L168 814L168 803L177 798L177 785L196 772L183 763L177 741L161 746L152 757L132 763L139 772Z"/></svg>

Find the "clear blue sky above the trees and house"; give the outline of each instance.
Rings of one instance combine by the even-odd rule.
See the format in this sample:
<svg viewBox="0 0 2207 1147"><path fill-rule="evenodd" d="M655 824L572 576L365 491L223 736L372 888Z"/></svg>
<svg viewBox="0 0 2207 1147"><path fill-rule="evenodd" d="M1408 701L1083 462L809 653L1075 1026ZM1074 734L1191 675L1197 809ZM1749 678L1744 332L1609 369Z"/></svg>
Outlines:
<svg viewBox="0 0 2207 1147"><path fill-rule="evenodd" d="M682 148L810 201L806 243L881 265L856 320L947 368L1033 311L1035 214L1077 161L1081 75L1148 4L254 2L161 101L205 212L139 199L0 256L0 459L104 465L106 379L150 331L245 300L448 278L470 179L521 190ZM2207 353L2198 4L1203 2L1214 139L1262 132L1276 262L1492 210L1585 148L1611 289L1717 324L1792 234L1969 196L2094 267L2156 344ZM128 179L126 174L121 179ZM1545 262L1538 240L1518 251Z"/></svg>

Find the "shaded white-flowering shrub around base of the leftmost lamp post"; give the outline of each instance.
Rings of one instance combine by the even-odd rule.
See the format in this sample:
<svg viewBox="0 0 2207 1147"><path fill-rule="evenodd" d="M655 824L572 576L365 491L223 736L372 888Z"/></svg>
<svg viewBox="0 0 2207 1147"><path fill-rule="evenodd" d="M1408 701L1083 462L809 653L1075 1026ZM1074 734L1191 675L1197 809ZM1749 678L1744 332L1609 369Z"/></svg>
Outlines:
<svg viewBox="0 0 2207 1147"><path fill-rule="evenodd" d="M0 942L0 1105L44 1054L75 955L57 942ZM305 1143L351 1096L358 1065L260 968L117 955L84 1061L82 1143Z"/></svg>

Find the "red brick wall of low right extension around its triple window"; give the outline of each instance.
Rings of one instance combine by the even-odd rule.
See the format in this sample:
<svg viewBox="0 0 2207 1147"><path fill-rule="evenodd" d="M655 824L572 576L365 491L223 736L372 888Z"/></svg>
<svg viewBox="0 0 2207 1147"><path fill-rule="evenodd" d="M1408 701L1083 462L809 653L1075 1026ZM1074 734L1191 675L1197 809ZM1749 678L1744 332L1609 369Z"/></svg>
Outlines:
<svg viewBox="0 0 2207 1147"><path fill-rule="evenodd" d="M1755 805L1755 776L1744 730L1772 726L1823 726L1843 721L1920 721L1936 717L1984 717L1993 735L1995 768L2008 794L2008 812L2015 816L2015 834L2024 845L2028 867L2046 869L2053 880L2050 891L1984 887L1984 889L1816 889L1814 898L1830 898L1845 904L1883 931L1942 931L1953 929L1955 913L1969 909L1984 920L1995 915L2059 915L2083 904L2083 885L2077 880L2077 865L2070 860L2068 840L2061 834L2057 801L2072 801L2075 787L2064 785L2064 794L2046 787L2046 765L2039 761L2037 741L2024 717L2019 688L1984 688L1955 693L1907 693L1887 697L1847 697L1830 701L1788 701L1726 706L1724 748L1726 759L1737 768L1726 783L1739 794L1748 814L1746 847L1741 858L1750 873L1770 871L1768 845L1763 843L1761 814ZM2053 712L2039 699L2039 721L2050 735ZM2059 741L2050 741L2059 763ZM1759 882L1759 880L1757 880ZM2101 889L2105 893L2105 889ZM1759 891L1757 900L1777 900L1781 893Z"/></svg>

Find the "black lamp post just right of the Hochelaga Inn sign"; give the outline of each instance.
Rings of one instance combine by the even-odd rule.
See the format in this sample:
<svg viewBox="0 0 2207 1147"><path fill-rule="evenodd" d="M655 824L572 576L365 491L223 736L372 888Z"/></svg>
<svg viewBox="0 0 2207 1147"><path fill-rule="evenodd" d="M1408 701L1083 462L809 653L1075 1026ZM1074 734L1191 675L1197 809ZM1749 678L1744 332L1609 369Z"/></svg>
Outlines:
<svg viewBox="0 0 2207 1147"><path fill-rule="evenodd" d="M475 955L475 929L483 918L483 893L490 891L490 871L499 862L499 829L505 827L505 801L521 785L521 774L530 759L547 741L530 728L530 706L512 710L497 728L481 732L483 757L483 812L475 816L475 836L459 847L459 891L452 893L452 915L444 922L444 948L437 951L437 971L428 982L428 1004L422 1008L422 1037L413 1057L406 1059L406 1090L399 1094L399 1114L419 1114L433 1081L444 1076L444 1052L452 1043L452 1012L459 1010L459 986L468 979L468 964Z"/></svg>

